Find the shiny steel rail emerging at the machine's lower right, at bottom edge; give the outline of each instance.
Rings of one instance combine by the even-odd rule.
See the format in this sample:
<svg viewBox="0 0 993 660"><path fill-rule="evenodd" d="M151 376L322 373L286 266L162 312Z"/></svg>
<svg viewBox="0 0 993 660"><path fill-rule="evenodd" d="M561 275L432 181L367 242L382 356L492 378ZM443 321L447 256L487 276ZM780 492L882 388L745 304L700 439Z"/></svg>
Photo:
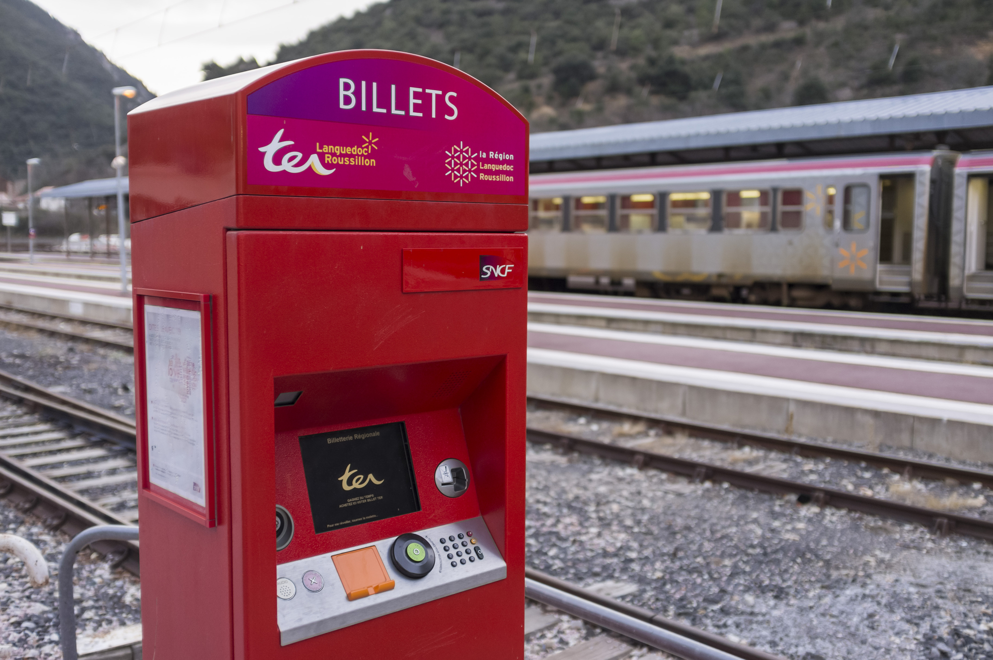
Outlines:
<svg viewBox="0 0 993 660"><path fill-rule="evenodd" d="M760 651L759 649L752 648L751 646L746 646L745 644L739 644L733 642L726 637L721 637L712 632L707 632L706 630L701 630L700 628L694 628L691 625L685 623L680 623L679 621L674 621L672 619L665 618L660 614L656 614L650 609L645 609L643 607L638 607L638 605L632 605L621 600L615 600L605 595L601 595L589 589L585 589L582 586L578 586L571 582L559 578L553 578L547 574L534 569L524 569L524 595L537 600L538 602L544 602L552 607L557 607L554 602L548 602L548 599L543 599L543 591L534 588L534 583L542 584L546 587L555 589L561 593L569 594L578 598L580 602L573 602L574 606L572 610L566 610L561 608L563 611L568 611L568 613L578 616L584 620L588 620L591 623L596 623L597 625L604 625L600 621L592 620L586 616L587 608L585 603L592 603L600 607L610 609L615 612L619 612L625 616L637 619L645 624L662 628L669 633L678 635L684 639L692 640L699 644L703 644L710 649L716 649L723 653L725 656L730 654L734 658L740 658L741 660L783 660L780 656L773 655L771 653L766 653L765 651ZM530 582L530 583L529 583ZM603 612L600 612L601 617L603 617ZM630 623L630 622L629 622ZM604 627L610 628L615 632L621 634L627 634L624 630L618 630L610 625L604 625ZM635 638L635 637L633 637ZM637 638L635 638L637 639ZM644 641L639 639L638 641ZM650 642L645 642L650 643ZM664 648L662 646L656 646L663 651L669 653L674 653L679 655L679 652L675 648ZM682 655L680 657L689 658L690 656ZM694 656L699 657L699 656ZM713 656L709 656L713 657Z"/></svg>

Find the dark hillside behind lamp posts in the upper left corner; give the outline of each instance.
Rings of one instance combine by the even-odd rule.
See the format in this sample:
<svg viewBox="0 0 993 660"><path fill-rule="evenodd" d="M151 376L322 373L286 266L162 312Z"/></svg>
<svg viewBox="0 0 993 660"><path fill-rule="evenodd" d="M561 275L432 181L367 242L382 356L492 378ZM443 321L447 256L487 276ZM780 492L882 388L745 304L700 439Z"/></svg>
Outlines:
<svg viewBox="0 0 993 660"><path fill-rule="evenodd" d="M39 157L39 185L113 176L111 87L152 97L79 35L28 0L0 0L0 178L23 179Z"/></svg>

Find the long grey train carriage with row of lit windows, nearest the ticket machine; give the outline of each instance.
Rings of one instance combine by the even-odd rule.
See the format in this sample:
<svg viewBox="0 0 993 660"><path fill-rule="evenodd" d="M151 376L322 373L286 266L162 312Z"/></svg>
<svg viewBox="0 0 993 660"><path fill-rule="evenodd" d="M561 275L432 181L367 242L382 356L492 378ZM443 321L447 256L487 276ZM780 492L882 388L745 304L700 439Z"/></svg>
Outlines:
<svg viewBox="0 0 993 660"><path fill-rule="evenodd" d="M558 279L666 297L909 302L938 293L946 278L932 235L947 231L930 196L956 157L938 150L533 175L530 275L539 286Z"/></svg>

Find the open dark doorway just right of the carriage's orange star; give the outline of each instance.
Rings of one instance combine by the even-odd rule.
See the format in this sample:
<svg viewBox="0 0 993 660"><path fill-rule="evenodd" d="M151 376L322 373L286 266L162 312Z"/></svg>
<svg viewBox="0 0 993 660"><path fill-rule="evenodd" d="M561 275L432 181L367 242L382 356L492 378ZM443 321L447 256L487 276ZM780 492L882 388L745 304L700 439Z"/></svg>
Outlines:
<svg viewBox="0 0 993 660"><path fill-rule="evenodd" d="M876 288L910 292L914 250L914 175L884 175L879 179L879 266Z"/></svg>

